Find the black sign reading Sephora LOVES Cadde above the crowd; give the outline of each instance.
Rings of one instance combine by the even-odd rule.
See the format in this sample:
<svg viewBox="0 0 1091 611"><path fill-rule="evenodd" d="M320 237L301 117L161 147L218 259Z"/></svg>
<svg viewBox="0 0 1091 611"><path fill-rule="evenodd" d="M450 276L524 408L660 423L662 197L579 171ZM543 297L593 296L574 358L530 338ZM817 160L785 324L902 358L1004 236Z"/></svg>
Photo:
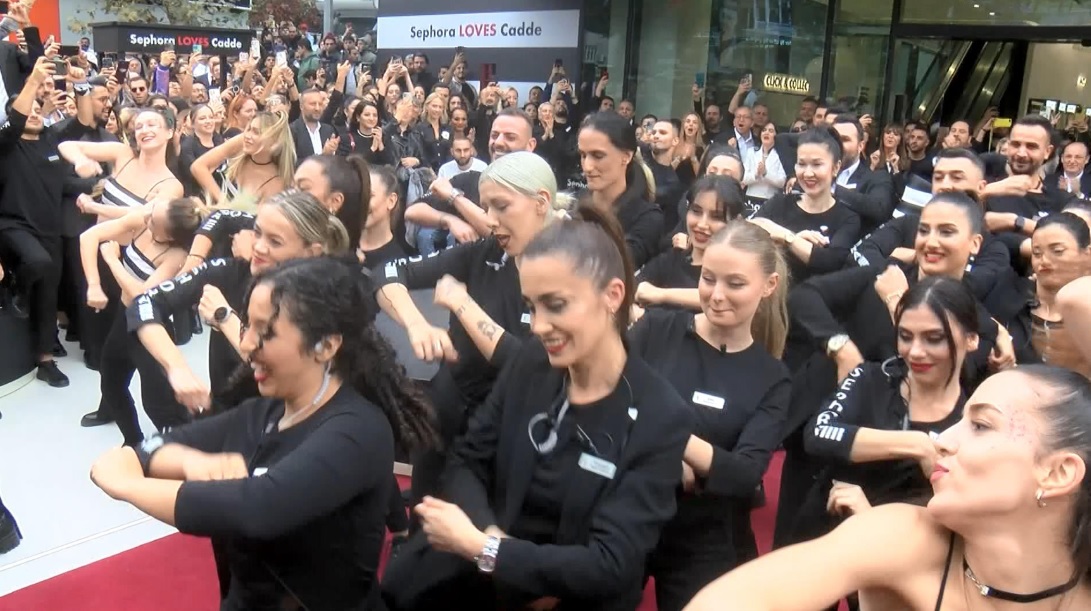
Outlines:
<svg viewBox="0 0 1091 611"><path fill-rule="evenodd" d="M127 23L92 24L98 51L158 55L167 48L189 53L200 45L205 55L233 56L250 49L253 33L248 29L142 25Z"/></svg>

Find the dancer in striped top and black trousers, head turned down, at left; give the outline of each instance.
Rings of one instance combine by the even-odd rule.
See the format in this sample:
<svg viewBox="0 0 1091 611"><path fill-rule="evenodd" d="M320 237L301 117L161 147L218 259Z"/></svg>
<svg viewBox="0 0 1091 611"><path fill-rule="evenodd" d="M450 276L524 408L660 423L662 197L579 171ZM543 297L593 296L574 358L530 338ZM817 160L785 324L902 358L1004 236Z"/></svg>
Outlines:
<svg viewBox="0 0 1091 611"><path fill-rule="evenodd" d="M136 445L144 440L136 406L129 393L129 383L137 369L141 372L141 403L156 429L161 431L189 420L185 409L175 400L163 370L130 338L124 308L147 289L178 273L193 235L201 226L201 209L191 199L154 202L149 207L149 211L137 209L100 223L80 236L83 273L87 278L87 306L101 311L109 301L99 278L99 251L121 288L122 306L117 310L103 346L98 409L85 418L109 415L121 429L125 445Z"/></svg>

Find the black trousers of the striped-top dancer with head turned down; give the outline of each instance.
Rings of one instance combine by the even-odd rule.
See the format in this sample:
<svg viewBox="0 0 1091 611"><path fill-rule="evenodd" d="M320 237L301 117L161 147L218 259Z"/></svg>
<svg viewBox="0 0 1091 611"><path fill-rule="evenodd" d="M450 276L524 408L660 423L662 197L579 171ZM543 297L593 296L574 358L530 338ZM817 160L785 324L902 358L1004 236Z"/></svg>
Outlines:
<svg viewBox="0 0 1091 611"><path fill-rule="evenodd" d="M144 348L144 345L129 333L124 309L119 308L113 326L106 337L99 369L99 390L103 398L98 409L112 414L121 429L125 445L136 445L144 441L136 417L136 405L129 392L133 373L140 371L141 402L155 428L163 431L189 422L189 411L175 399L163 368Z"/></svg>

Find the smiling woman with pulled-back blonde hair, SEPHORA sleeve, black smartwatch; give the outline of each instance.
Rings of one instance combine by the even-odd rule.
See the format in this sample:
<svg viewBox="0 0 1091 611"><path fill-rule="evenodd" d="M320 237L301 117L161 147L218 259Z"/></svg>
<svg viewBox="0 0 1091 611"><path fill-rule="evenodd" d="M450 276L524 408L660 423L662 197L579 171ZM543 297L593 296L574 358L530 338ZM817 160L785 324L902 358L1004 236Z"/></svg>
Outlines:
<svg viewBox="0 0 1091 611"><path fill-rule="evenodd" d="M253 386L230 384L240 362L238 312L253 275L290 259L341 254L348 250L345 227L312 195L286 191L257 207L252 254L247 259L213 259L166 281L133 301L127 312L129 331L166 370L178 400L193 412L220 411L237 405L238 397L256 394ZM165 327L176 312L201 303L216 316L208 321L215 333L208 340L205 384L190 369ZM211 396L209 396L211 394Z"/></svg>

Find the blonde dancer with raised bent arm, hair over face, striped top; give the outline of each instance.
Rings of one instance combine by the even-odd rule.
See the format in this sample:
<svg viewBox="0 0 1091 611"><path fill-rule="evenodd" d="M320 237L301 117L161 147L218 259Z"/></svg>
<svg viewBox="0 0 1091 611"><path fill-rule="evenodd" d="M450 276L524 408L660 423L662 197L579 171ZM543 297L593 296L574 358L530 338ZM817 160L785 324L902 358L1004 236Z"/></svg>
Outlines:
<svg viewBox="0 0 1091 611"><path fill-rule="evenodd" d="M227 161L224 185L213 172ZM208 200L232 207L260 204L291 184L296 171L296 147L288 131L288 116L259 112L247 131L205 153L190 166L193 180Z"/></svg>

